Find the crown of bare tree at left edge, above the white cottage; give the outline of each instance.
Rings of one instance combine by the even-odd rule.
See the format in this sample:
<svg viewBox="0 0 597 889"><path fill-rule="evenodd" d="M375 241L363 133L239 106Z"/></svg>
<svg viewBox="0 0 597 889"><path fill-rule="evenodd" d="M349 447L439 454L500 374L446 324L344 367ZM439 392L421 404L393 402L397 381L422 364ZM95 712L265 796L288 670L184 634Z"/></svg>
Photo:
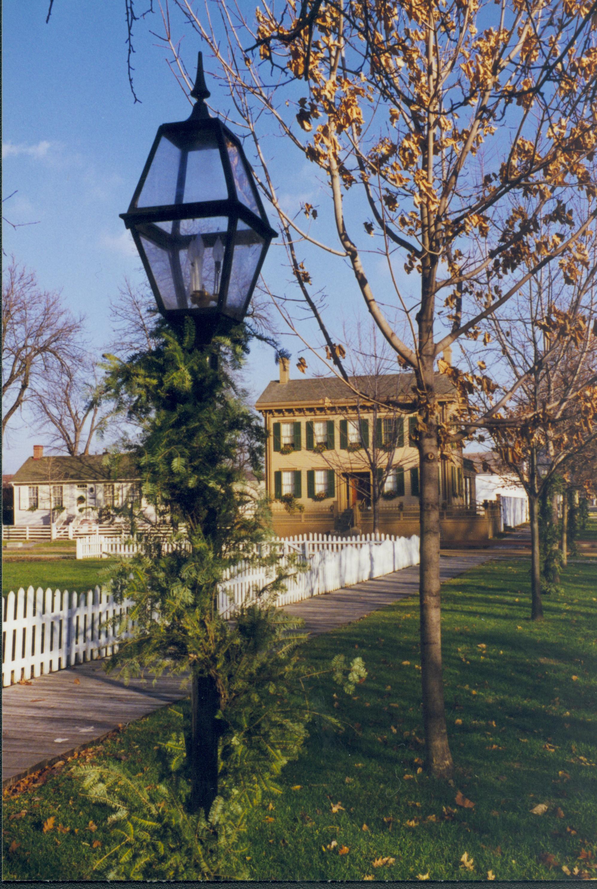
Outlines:
<svg viewBox="0 0 597 889"><path fill-rule="evenodd" d="M83 354L83 318L64 308L60 293L42 291L34 272L14 258L2 286L2 434L14 415L60 366Z"/></svg>

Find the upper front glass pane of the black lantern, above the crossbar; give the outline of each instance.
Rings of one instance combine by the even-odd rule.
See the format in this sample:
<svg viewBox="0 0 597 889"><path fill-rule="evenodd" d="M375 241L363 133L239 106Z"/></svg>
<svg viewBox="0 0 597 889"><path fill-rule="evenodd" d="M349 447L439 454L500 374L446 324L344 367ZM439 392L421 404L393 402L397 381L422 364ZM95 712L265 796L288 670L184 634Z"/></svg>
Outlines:
<svg viewBox="0 0 597 889"><path fill-rule="evenodd" d="M162 136L137 200L138 207L225 200L226 178L218 142L209 133L187 140L183 147ZM160 228L170 231L169 223Z"/></svg>

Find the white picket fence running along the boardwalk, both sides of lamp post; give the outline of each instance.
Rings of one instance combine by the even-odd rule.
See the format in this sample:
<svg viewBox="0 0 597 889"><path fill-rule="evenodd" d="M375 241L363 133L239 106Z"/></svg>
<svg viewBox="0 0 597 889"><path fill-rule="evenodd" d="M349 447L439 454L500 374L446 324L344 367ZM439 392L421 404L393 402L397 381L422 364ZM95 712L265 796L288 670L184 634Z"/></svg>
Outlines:
<svg viewBox="0 0 597 889"><path fill-rule="evenodd" d="M87 538L89 540L97 543L98 539ZM118 545L119 541L109 543ZM289 568L291 576L284 581L286 591L277 595L275 605L290 605L418 565L418 543L416 535L324 538L310 534L273 541L262 548L262 554L267 554L267 547L278 549L278 565ZM112 550L115 555L133 555L134 546L122 542L119 545L123 550ZM99 555L102 554L100 551ZM291 564L291 554L298 556L299 562L306 562L306 571L296 571ZM224 617L233 616L239 605L257 598L274 578L273 567L249 563L235 566L219 587L219 612ZM100 587L78 595L59 589L44 592L33 587L27 591L21 588L16 594L11 591L3 598L2 684L12 685L21 679L113 653L117 638L128 635L126 632L116 634L113 619L116 615L116 622L120 623L131 605L129 600L116 605L113 597Z"/></svg>

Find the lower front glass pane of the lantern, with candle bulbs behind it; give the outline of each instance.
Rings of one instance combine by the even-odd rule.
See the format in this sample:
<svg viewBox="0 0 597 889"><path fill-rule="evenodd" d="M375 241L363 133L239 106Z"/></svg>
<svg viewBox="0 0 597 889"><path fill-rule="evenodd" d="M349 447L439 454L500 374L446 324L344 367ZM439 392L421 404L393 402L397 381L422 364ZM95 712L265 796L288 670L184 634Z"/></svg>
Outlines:
<svg viewBox="0 0 597 889"><path fill-rule="evenodd" d="M228 240L227 217L170 224L166 235L152 237L148 226L141 235L164 308L217 308Z"/></svg>

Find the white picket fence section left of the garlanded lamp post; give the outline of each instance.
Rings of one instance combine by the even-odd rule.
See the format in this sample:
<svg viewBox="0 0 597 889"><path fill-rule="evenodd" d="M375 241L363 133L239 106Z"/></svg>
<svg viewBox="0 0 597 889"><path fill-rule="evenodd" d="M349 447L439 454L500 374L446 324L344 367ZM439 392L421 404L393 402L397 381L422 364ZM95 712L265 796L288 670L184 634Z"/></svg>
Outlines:
<svg viewBox="0 0 597 889"><path fill-rule="evenodd" d="M130 603L116 605L99 587L87 593L60 589L21 589L3 599L2 684L12 685L71 664L111 654L115 615L128 613Z"/></svg>

